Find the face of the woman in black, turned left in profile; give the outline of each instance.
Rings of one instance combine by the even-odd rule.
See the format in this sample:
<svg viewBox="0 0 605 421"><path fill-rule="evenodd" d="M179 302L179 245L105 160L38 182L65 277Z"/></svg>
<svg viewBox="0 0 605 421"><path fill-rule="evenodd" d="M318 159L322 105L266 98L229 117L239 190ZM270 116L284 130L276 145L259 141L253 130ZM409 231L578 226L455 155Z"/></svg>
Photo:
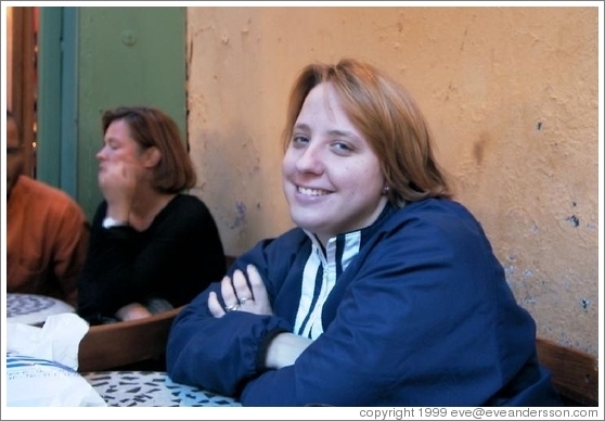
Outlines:
<svg viewBox="0 0 605 421"><path fill-rule="evenodd" d="M103 137L103 148L96 153L99 171L103 173L108 165L115 163L137 164L141 156L141 148L130 136L128 123L124 119L114 120L107 126Z"/></svg>

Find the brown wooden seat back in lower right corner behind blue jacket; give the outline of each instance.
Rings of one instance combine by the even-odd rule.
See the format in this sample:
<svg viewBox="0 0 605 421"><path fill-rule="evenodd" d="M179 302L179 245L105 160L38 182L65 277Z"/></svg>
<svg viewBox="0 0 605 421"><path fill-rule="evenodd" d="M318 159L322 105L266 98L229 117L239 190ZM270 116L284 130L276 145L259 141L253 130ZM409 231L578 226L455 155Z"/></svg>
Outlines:
<svg viewBox="0 0 605 421"><path fill-rule="evenodd" d="M598 406L598 361L584 352L538 339L538 359L552 373L553 384L567 406Z"/></svg>

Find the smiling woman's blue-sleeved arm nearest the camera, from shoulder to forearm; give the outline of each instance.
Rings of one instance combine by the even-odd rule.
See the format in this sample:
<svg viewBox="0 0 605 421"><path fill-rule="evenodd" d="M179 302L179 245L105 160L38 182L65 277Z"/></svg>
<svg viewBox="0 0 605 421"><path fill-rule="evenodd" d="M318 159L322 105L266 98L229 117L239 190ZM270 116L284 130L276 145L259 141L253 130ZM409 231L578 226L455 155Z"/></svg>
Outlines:
<svg viewBox="0 0 605 421"><path fill-rule="evenodd" d="M383 239L338 280L335 289L347 288L324 333L294 365L246 382L242 404L489 401L531 355L535 327L506 290L487 241L459 228L420 226L397 241Z"/></svg>

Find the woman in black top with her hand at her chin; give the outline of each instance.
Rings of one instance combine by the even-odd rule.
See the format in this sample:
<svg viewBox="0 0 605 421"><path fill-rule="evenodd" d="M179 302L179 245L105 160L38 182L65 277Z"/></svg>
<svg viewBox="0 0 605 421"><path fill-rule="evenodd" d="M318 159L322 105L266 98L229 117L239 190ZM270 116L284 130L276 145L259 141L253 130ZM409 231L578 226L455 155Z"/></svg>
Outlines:
<svg viewBox="0 0 605 421"><path fill-rule="evenodd" d="M196 176L176 123L159 110L118 107L102 126L104 200L78 282L78 314L91 324L188 304L226 272L213 215L184 193Z"/></svg>

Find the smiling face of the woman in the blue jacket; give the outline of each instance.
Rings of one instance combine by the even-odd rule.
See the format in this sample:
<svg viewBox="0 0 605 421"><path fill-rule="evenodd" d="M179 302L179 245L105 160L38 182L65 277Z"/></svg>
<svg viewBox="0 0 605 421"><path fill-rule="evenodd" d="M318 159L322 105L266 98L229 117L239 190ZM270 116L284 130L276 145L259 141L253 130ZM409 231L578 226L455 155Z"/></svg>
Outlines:
<svg viewBox="0 0 605 421"><path fill-rule="evenodd" d="M374 222L387 202L378 157L325 82L302 104L282 177L293 221L324 244Z"/></svg>

